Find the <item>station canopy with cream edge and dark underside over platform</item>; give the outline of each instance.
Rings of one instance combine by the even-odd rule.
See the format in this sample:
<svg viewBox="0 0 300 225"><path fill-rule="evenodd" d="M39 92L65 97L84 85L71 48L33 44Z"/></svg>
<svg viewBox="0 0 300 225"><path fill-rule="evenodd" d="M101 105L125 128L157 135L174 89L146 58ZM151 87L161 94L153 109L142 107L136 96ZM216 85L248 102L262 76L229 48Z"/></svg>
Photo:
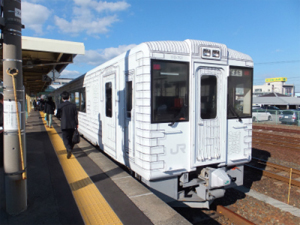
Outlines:
<svg viewBox="0 0 300 225"><path fill-rule="evenodd" d="M43 92L52 82L47 74L51 71L61 73L68 64L73 63L76 55L84 53L83 43L22 36L23 82L26 92ZM0 54L3 58L2 51ZM3 80L3 64L0 79Z"/></svg>

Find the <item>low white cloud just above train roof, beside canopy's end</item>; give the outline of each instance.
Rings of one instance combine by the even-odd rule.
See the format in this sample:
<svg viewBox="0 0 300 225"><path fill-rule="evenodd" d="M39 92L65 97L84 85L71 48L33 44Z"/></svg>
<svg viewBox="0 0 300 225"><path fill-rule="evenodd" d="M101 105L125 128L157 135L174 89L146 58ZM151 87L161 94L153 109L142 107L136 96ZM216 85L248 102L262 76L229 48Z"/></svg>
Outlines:
<svg viewBox="0 0 300 225"><path fill-rule="evenodd" d="M127 50L136 46L135 44L131 45L120 45L117 48L106 48L98 50L87 50L85 55L78 55L74 59L74 64L86 63L93 66L99 66L102 63L120 55L121 53L126 52Z"/></svg>

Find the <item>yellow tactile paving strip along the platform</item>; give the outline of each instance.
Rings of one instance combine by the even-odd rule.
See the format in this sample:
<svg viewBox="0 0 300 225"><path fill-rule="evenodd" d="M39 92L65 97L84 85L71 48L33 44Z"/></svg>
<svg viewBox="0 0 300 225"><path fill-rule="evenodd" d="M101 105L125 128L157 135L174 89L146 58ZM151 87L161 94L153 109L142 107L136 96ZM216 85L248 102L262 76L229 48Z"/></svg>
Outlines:
<svg viewBox="0 0 300 225"><path fill-rule="evenodd" d="M67 159L66 148L56 130L46 127L44 119L43 123L85 224L122 224L77 159L73 155Z"/></svg>

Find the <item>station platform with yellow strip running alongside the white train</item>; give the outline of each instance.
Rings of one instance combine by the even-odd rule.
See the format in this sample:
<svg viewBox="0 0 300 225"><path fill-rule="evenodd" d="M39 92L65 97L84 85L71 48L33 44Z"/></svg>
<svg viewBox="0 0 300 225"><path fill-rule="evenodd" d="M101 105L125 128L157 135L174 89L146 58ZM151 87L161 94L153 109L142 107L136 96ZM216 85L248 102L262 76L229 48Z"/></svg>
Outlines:
<svg viewBox="0 0 300 225"><path fill-rule="evenodd" d="M0 224L190 224L84 138L67 159L60 121L53 126L28 117L28 204L18 215L6 213L0 168Z"/></svg>

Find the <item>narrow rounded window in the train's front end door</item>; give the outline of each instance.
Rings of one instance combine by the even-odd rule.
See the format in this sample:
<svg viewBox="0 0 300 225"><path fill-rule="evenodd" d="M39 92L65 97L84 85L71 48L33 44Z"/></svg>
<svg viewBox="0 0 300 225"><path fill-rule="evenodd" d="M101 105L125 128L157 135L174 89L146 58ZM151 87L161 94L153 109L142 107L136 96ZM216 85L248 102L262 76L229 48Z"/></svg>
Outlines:
<svg viewBox="0 0 300 225"><path fill-rule="evenodd" d="M217 78L203 75L201 77L201 118L214 119L217 116Z"/></svg>

